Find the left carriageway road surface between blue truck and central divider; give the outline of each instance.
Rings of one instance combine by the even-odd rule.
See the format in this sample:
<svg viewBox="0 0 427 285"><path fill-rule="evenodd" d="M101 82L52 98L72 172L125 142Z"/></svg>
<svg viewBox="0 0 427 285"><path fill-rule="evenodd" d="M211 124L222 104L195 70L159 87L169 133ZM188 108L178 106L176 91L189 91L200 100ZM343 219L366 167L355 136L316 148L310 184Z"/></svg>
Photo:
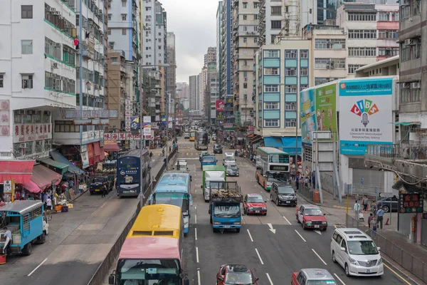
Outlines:
<svg viewBox="0 0 427 285"><path fill-rule="evenodd" d="M154 151L154 176L163 157ZM29 257L7 257L0 265L1 285L88 284L112 244L130 221L139 199L83 194L68 213L52 215L45 244L33 247Z"/></svg>

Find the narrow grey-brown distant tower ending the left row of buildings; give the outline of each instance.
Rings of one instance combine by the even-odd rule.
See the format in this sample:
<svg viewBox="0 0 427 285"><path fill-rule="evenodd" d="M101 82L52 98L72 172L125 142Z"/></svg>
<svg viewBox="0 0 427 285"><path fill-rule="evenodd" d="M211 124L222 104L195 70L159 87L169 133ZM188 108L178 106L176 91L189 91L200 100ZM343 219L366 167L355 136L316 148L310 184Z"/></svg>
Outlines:
<svg viewBox="0 0 427 285"><path fill-rule="evenodd" d="M169 67L166 68L167 72L167 90L175 94L176 93L176 53L175 53L175 34L173 32L167 32L167 64ZM175 97L169 98L169 114L174 114Z"/></svg>

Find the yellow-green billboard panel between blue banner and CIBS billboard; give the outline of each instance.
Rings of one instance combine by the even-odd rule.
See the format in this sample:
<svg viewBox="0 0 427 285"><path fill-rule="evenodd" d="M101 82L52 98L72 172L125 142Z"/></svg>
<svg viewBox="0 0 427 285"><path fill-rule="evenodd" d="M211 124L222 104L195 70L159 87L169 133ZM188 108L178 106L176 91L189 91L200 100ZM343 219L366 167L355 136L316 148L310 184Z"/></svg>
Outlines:
<svg viewBox="0 0 427 285"><path fill-rule="evenodd" d="M337 83L316 88L316 130L337 133Z"/></svg>

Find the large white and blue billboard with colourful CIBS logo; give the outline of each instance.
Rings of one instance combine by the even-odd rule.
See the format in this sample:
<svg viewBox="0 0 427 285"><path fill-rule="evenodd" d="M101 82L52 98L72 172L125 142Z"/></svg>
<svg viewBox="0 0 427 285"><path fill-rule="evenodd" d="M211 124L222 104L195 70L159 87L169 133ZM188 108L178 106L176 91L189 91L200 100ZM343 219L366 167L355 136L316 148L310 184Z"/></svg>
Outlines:
<svg viewBox="0 0 427 285"><path fill-rule="evenodd" d="M393 78L339 81L342 155L365 155L367 145L393 143Z"/></svg>

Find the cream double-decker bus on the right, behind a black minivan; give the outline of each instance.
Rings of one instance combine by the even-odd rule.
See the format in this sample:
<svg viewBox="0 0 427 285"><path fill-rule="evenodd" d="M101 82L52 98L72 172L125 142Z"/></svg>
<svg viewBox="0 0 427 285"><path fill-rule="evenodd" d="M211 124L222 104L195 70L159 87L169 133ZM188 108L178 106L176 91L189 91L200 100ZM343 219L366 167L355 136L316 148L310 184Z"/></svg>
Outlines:
<svg viewBox="0 0 427 285"><path fill-rule="evenodd" d="M258 147L256 150L256 180L267 191L277 181L287 181L290 177L290 163L287 152L274 147Z"/></svg>

